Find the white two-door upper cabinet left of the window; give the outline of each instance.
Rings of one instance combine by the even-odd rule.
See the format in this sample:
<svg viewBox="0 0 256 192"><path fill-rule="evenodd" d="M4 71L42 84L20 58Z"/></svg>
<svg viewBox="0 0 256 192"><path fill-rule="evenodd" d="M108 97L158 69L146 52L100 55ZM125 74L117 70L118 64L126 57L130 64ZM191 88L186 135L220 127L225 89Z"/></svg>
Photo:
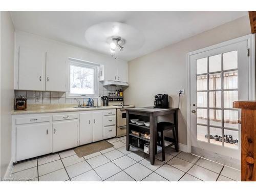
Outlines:
<svg viewBox="0 0 256 192"><path fill-rule="evenodd" d="M55 52L20 46L16 79L19 90L65 92L68 79L66 58Z"/></svg>

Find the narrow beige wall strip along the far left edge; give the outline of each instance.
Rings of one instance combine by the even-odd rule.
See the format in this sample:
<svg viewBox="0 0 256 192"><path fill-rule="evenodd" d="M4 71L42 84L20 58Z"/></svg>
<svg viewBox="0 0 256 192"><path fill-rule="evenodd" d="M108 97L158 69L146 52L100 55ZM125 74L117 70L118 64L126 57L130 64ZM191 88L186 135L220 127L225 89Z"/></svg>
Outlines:
<svg viewBox="0 0 256 192"><path fill-rule="evenodd" d="M9 12L1 12L1 66L0 66L0 107L1 139L0 165L3 178L11 160L11 111L13 110L14 79L14 27Z"/></svg>

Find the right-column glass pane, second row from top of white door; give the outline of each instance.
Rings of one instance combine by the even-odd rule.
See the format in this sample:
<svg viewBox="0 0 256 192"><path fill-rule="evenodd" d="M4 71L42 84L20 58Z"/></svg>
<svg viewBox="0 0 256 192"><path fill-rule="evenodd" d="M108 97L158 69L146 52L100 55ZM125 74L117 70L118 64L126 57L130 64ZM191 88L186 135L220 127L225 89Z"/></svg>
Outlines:
<svg viewBox="0 0 256 192"><path fill-rule="evenodd" d="M238 71L224 72L223 78L224 89L238 89Z"/></svg>

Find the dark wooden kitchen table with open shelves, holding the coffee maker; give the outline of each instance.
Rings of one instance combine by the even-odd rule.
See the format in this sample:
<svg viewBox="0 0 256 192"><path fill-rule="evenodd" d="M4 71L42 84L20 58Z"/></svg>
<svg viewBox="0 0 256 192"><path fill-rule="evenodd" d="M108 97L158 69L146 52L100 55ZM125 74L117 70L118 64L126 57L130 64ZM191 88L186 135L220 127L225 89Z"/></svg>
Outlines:
<svg viewBox="0 0 256 192"><path fill-rule="evenodd" d="M130 150L130 138L134 137L131 135L131 128L137 127L141 130L148 130L150 132L150 140L146 140L145 138L137 137L138 139L142 139L144 141L149 141L150 143L150 162L152 165L155 164L155 154L157 152L157 117L162 115L174 115L174 124L177 129L178 135L178 108L167 108L167 109L158 109L153 107L147 108L129 108L126 109L126 150ZM144 125L136 125L131 123L131 119L139 119L140 121L149 121L150 127L146 127ZM177 141L178 142L178 141Z"/></svg>

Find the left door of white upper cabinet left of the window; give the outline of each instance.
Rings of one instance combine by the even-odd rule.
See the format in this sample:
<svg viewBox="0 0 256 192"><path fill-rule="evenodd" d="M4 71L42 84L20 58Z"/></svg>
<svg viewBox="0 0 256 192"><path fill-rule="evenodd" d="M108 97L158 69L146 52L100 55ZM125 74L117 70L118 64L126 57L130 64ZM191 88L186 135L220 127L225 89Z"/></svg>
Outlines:
<svg viewBox="0 0 256 192"><path fill-rule="evenodd" d="M45 90L46 52L19 47L18 89Z"/></svg>

